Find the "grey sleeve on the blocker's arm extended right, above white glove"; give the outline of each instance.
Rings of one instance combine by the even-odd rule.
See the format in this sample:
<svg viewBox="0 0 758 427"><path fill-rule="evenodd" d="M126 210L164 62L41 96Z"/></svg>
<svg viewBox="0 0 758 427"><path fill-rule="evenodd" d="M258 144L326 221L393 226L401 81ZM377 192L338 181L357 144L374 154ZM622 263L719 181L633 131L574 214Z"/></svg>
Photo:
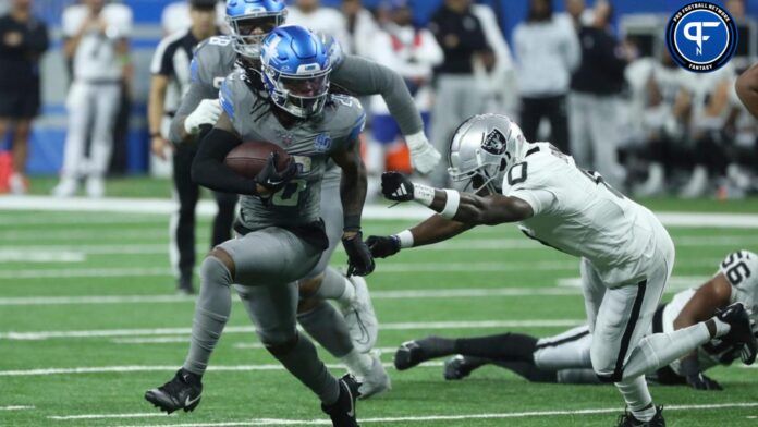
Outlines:
<svg viewBox="0 0 758 427"><path fill-rule="evenodd" d="M400 74L365 59L347 56L332 82L358 96L381 95L403 135L424 131L421 114Z"/></svg>

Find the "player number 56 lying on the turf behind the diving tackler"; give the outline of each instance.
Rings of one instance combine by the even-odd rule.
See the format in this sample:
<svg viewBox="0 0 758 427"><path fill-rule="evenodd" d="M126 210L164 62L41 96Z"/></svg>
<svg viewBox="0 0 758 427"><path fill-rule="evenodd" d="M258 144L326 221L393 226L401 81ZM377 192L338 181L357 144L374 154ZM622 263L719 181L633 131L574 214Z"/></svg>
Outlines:
<svg viewBox="0 0 758 427"><path fill-rule="evenodd" d="M670 303L659 305L648 335L708 320L734 303L745 305L751 310L751 319L758 320L758 255L751 252L730 254L721 263L719 272L699 289L682 291ZM403 343L395 353L394 364L398 370L404 370L436 357L456 354L445 362L445 379L462 379L481 366L496 364L535 382L597 383L589 357L591 343L587 326L542 339L523 333L456 340L428 337ZM713 366L731 365L739 357L741 350L733 343L711 340L669 366L647 373L647 377L665 386L721 390L721 386L704 373Z"/></svg>

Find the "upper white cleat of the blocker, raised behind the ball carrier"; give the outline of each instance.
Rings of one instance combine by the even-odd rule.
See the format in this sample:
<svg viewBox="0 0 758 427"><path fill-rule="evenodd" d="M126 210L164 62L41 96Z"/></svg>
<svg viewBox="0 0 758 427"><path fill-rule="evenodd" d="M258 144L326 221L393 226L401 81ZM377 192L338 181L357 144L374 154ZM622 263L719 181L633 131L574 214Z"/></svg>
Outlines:
<svg viewBox="0 0 758 427"><path fill-rule="evenodd" d="M371 295L368 294L366 280L359 276L347 278L355 288L355 300L342 308L345 317L350 338L358 353L368 353L377 343L379 322L371 304Z"/></svg>

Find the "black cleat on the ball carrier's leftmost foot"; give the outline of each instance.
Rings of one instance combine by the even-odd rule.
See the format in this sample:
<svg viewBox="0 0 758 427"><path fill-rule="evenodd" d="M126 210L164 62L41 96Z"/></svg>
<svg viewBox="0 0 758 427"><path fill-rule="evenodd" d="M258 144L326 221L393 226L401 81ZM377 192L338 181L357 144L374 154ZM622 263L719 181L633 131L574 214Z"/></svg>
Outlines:
<svg viewBox="0 0 758 427"><path fill-rule="evenodd" d="M145 392L145 400L171 414L178 410L194 411L200 404L203 383L195 375L179 369L171 381Z"/></svg>

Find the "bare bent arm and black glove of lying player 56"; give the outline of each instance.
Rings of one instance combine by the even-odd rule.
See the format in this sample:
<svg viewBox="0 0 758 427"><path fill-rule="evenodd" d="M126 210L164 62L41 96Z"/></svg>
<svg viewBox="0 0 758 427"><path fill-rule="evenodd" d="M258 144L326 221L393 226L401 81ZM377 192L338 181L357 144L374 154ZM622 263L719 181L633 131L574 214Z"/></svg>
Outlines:
<svg viewBox="0 0 758 427"><path fill-rule="evenodd" d="M732 285L723 273L719 273L701 285L674 319L674 330L684 329L706 321L720 308L731 303ZM722 390L714 380L706 377L698 362L697 351L682 358L682 374L687 383L698 390Z"/></svg>

